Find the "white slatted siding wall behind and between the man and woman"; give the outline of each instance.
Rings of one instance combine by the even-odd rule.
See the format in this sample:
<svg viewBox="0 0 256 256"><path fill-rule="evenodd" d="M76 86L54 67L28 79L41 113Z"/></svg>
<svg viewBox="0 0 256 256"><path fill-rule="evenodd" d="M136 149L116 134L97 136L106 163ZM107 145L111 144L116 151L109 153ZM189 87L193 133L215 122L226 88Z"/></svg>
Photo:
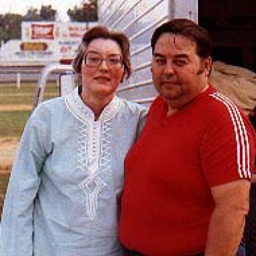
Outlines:
<svg viewBox="0 0 256 256"><path fill-rule="evenodd" d="M99 23L123 31L131 43L133 74L118 90L121 97L151 103L150 39L156 27L176 17L198 19L197 0L99 0Z"/></svg>

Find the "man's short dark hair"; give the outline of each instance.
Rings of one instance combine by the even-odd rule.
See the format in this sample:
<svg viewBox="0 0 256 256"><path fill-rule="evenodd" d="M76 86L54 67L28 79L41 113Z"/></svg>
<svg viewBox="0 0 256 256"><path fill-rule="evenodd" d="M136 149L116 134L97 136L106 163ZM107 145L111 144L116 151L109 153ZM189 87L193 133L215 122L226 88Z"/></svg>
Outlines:
<svg viewBox="0 0 256 256"><path fill-rule="evenodd" d="M172 33L174 35L182 35L191 41L195 41L197 45L197 55L202 58L211 56L212 41L209 33L189 19L173 19L167 21L155 29L151 38L152 52L155 51L155 44L163 33Z"/></svg>

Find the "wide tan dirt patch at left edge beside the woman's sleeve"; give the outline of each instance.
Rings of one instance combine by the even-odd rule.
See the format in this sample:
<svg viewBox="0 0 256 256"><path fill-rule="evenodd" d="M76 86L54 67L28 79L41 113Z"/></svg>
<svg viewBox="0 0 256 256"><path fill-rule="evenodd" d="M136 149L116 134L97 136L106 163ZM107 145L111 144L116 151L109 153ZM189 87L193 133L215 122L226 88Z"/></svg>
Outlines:
<svg viewBox="0 0 256 256"><path fill-rule="evenodd" d="M5 173L11 170L11 165L18 148L17 138L0 138L0 172Z"/></svg>

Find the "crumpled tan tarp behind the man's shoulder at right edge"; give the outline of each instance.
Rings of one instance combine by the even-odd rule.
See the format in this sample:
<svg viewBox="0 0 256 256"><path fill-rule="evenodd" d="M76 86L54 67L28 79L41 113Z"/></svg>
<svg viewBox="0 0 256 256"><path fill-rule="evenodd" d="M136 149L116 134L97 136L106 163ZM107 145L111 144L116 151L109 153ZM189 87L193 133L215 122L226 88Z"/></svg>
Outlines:
<svg viewBox="0 0 256 256"><path fill-rule="evenodd" d="M239 105L246 115L256 106L256 73L253 71L215 61L209 82Z"/></svg>

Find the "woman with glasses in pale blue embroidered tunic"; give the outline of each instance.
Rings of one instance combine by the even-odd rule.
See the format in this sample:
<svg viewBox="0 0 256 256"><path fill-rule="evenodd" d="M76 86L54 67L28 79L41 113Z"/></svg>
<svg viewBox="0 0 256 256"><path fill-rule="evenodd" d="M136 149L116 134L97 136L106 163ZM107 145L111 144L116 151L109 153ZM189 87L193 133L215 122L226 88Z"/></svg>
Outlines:
<svg viewBox="0 0 256 256"><path fill-rule="evenodd" d="M25 127L5 198L1 255L121 255L123 159L147 112L115 96L131 74L127 37L93 27L73 67L81 89L41 103Z"/></svg>

